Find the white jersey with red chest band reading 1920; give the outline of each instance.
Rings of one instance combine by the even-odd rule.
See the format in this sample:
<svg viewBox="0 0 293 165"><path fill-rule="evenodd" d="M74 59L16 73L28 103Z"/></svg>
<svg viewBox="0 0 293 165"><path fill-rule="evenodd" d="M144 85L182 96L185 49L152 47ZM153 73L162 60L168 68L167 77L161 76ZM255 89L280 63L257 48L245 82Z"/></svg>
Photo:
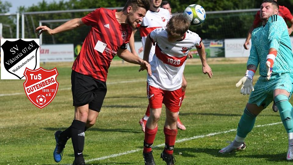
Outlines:
<svg viewBox="0 0 293 165"><path fill-rule="evenodd" d="M162 90L173 91L181 88L188 52L194 46L201 48L201 38L189 30L180 41L169 42L167 37L166 28L157 28L150 33L150 39L157 44L150 62L152 75L147 76L147 83Z"/></svg>

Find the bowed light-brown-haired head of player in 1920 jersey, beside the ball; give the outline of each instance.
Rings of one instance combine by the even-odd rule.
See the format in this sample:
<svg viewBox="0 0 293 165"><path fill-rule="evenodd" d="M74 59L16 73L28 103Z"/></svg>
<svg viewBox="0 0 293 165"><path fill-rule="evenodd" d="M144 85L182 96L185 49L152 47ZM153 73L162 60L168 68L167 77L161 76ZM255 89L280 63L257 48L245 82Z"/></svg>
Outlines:
<svg viewBox="0 0 293 165"><path fill-rule="evenodd" d="M172 16L166 26L168 41L174 42L183 39L184 34L188 30L189 26L190 22L188 21L188 18L183 15L183 13Z"/></svg>

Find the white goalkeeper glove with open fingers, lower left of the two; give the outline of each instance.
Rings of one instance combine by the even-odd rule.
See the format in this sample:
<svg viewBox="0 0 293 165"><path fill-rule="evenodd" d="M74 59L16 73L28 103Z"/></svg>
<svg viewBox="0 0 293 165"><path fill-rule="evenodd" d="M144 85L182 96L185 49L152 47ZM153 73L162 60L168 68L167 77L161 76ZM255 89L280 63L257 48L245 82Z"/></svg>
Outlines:
<svg viewBox="0 0 293 165"><path fill-rule="evenodd" d="M242 84L241 90L240 90L241 94L247 95L247 94L250 94L250 91L254 91L253 85L252 85L253 76L254 76L254 71L247 70L245 73L245 76L237 82L236 84L237 88Z"/></svg>

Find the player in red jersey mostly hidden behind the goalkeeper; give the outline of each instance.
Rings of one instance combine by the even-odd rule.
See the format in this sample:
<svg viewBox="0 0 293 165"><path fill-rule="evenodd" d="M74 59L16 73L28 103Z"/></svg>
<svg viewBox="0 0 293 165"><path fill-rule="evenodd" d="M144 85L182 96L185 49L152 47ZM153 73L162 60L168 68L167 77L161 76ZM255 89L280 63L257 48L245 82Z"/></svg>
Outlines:
<svg viewBox="0 0 293 165"><path fill-rule="evenodd" d="M277 2L277 0L275 0ZM285 7L285 6L280 6L279 5L279 13L278 13L279 16L283 17L285 22L288 24L288 21L290 22L291 24L291 27L287 27L288 28L288 33L289 35L291 35L292 31L293 31L293 16L290 12L290 10ZM260 11L258 11L255 15L255 19L253 21L253 24L251 25L251 27L249 28L249 31L247 33L247 37L246 37L246 40L245 40L245 43L244 43L244 48L246 50L248 50L248 45L250 45L250 42L249 40L251 39L251 32L253 31L253 29L257 28L259 26L259 24L262 23L262 20L260 19ZM289 25L289 24L288 24ZM274 112L278 112L278 107L275 105L275 102L273 103L273 111Z"/></svg>

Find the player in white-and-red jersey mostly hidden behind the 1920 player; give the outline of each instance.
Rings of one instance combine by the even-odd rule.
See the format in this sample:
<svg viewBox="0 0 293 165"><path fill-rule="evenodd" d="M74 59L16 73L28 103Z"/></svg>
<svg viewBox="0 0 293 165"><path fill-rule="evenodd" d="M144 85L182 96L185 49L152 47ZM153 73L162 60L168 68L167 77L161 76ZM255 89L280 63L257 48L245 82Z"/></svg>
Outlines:
<svg viewBox="0 0 293 165"><path fill-rule="evenodd" d="M142 44L144 47L147 35L151 31L153 31L156 28L165 27L167 25L167 22L169 21L171 16L170 16L170 13L168 10L160 8L161 3L162 3L161 0L150 0L150 10L147 11L147 14L143 18L143 21L141 22L141 24L138 24L138 27L132 31L132 36L129 41L129 47L130 47L130 50L133 54L137 55L136 50L135 50L135 46L134 46L134 35L135 35L137 29L139 29L141 41L142 41ZM152 46L152 48L150 50L149 62L152 60L154 53L155 53L155 46ZM183 86L182 89L183 89L183 91L185 91L186 86L187 86L187 82L186 82L184 76L183 76L183 79L184 79L184 81L182 84L182 86ZM183 97L184 97L184 94L185 94L185 92L183 93ZM143 132L145 132L145 126L146 126L147 119L149 116L150 116L150 108L148 105L147 111L146 111L144 117L139 120L139 124L142 127ZM179 117L177 120L177 126L181 130L186 129L185 126L181 123Z"/></svg>

